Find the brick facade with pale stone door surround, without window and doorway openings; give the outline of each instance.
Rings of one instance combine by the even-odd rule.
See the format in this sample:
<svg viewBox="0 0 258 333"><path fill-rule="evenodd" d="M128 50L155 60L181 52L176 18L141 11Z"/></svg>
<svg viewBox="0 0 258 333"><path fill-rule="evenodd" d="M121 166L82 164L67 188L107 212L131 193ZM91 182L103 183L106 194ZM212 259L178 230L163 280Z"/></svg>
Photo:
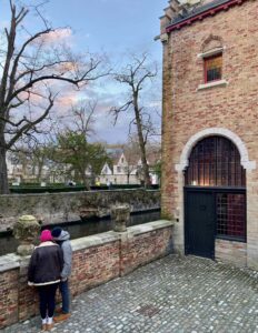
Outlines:
<svg viewBox="0 0 258 333"><path fill-rule="evenodd" d="M247 175L245 263L258 268L258 1L238 1L166 30L179 10L178 2L171 0L161 18L162 213L178 219L175 243L183 252L186 160L192 145L209 133L227 137L236 143ZM222 50L224 81L208 88L204 84L201 54L216 48ZM230 242L228 246L237 249Z"/></svg>

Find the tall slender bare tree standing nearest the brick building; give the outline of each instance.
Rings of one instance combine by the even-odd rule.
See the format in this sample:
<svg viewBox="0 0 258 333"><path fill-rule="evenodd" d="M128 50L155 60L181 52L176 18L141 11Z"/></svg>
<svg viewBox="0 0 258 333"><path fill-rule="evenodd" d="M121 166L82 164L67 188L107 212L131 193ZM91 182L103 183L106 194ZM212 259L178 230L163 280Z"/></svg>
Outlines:
<svg viewBox="0 0 258 333"><path fill-rule="evenodd" d="M143 105L140 105L140 93L149 80L157 75L157 68L148 63L148 54L143 53L141 57L132 56L131 63L115 75L115 79L128 87L128 100L121 107L113 107L111 113L115 115L115 124L118 117L122 112L133 111L133 118L130 123L137 128L137 135L140 148L140 158L142 164L142 172L145 178L145 185L150 185L149 165L146 157L146 144L148 137L153 132L155 128L151 122L151 117ZM129 129L130 132L130 129Z"/></svg>

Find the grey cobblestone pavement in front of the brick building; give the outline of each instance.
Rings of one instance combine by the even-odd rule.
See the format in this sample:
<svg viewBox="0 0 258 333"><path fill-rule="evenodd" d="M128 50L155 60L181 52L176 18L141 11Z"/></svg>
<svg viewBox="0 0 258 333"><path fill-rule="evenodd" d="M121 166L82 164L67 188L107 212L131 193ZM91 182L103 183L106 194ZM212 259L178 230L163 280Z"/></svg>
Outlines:
<svg viewBox="0 0 258 333"><path fill-rule="evenodd" d="M40 332L34 317L2 332ZM169 255L72 302L51 332L258 333L258 273L214 261Z"/></svg>

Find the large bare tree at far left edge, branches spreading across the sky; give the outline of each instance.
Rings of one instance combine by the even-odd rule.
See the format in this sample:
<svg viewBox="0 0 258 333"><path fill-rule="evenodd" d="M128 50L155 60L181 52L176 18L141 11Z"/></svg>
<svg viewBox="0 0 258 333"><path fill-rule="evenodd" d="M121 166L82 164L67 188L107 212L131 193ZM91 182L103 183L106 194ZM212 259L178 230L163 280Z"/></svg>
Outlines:
<svg viewBox="0 0 258 333"><path fill-rule="evenodd" d="M105 74L99 58L75 56L63 44L48 44L60 29L52 29L34 7L43 29L29 33L26 7L10 0L10 27L4 28L0 51L0 194L8 193L7 151L21 138L39 131L49 117L58 91L54 82L80 89ZM89 54L88 54L89 56ZM56 84L57 85L57 84Z"/></svg>

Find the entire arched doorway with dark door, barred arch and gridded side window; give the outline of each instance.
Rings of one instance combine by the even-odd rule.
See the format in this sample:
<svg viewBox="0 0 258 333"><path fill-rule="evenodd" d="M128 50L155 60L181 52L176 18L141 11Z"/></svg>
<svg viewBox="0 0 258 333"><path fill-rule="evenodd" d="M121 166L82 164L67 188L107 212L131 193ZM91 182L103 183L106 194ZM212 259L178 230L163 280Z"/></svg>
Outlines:
<svg viewBox="0 0 258 333"><path fill-rule="evenodd" d="M246 170L236 145L207 137L185 171L185 252L215 258L216 238L246 242Z"/></svg>

